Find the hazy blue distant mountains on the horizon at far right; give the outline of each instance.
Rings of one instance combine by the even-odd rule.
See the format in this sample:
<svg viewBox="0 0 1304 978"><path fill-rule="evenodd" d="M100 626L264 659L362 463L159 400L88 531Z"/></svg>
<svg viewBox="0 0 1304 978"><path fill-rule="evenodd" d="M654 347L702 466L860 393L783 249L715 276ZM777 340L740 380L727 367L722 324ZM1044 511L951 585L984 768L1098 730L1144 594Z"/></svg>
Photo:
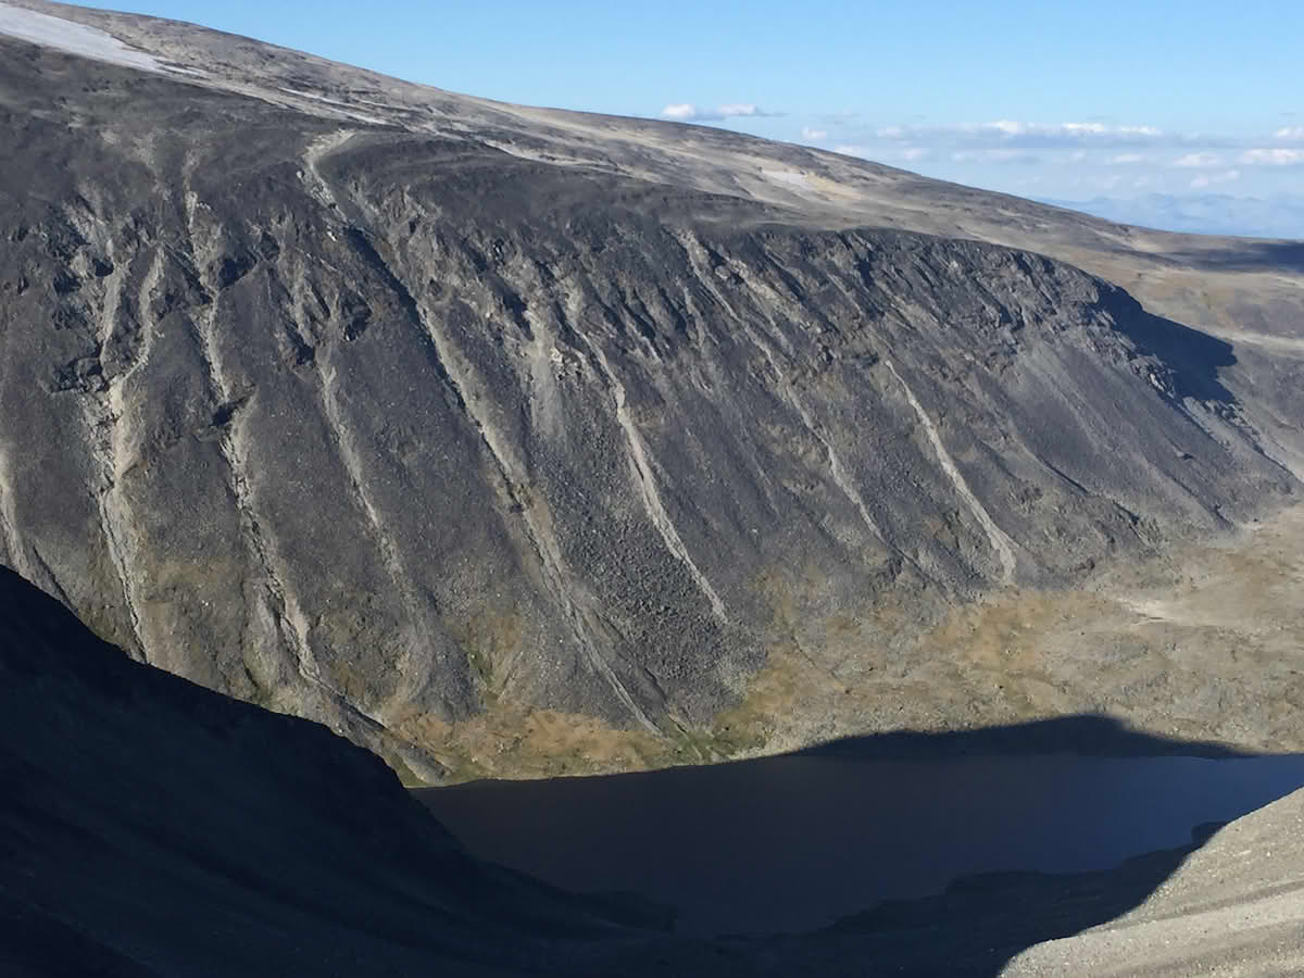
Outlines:
<svg viewBox="0 0 1304 978"><path fill-rule="evenodd" d="M1150 193L1131 200L1094 197L1061 201L1046 197L1042 203L1091 214L1120 224L1192 235L1237 235L1241 237L1304 239L1304 196L1232 197L1224 193Z"/></svg>

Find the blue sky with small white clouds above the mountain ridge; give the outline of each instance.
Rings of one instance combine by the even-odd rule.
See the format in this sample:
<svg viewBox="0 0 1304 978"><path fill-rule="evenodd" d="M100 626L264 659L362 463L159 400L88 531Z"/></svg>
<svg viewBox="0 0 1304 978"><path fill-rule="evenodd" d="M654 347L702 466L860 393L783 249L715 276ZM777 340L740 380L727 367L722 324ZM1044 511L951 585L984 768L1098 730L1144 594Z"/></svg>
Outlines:
<svg viewBox="0 0 1304 978"><path fill-rule="evenodd" d="M1304 0L140 0L412 81L1034 197L1304 194Z"/></svg>

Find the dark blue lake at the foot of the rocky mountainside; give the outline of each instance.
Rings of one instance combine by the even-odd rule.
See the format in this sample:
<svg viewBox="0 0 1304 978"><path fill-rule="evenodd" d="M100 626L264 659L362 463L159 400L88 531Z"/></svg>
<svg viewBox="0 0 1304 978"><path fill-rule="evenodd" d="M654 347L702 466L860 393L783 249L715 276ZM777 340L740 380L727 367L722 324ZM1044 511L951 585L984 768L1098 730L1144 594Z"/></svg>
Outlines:
<svg viewBox="0 0 1304 978"><path fill-rule="evenodd" d="M1110 868L1301 785L1304 755L786 755L419 794L477 857L722 934L811 930L974 872Z"/></svg>

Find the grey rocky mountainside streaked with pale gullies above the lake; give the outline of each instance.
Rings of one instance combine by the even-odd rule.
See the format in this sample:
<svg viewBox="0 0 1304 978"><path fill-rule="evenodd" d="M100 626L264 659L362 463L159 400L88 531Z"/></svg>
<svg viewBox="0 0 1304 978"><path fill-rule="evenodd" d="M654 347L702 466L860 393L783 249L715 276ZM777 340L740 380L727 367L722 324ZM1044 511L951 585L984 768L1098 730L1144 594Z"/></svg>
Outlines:
<svg viewBox="0 0 1304 978"><path fill-rule="evenodd" d="M0 9L0 562L421 778L1037 713L921 635L1299 490L1291 252Z"/></svg>

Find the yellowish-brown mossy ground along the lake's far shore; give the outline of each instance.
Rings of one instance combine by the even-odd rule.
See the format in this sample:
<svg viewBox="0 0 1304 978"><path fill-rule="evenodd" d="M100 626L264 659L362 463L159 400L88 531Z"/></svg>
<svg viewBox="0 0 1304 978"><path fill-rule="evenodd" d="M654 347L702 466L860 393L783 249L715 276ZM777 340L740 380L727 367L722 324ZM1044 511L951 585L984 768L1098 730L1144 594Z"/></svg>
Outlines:
<svg viewBox="0 0 1304 978"><path fill-rule="evenodd" d="M412 717L396 733L434 751L451 781L700 764L948 729L956 717L985 726L1080 712L1191 739L1304 750L1295 721L1304 705L1301 540L1296 507L1086 587L1009 588L936 622L889 605L803 618L806 599L769 580L765 664L709 724L666 722L652 734L498 699L468 720Z"/></svg>

